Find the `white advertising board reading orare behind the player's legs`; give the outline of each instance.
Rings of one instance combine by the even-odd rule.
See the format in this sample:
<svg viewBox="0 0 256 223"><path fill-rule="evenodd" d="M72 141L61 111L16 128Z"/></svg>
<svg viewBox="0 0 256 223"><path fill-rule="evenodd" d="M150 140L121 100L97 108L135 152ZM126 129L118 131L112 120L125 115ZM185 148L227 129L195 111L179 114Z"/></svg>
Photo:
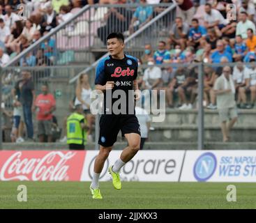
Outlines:
<svg viewBox="0 0 256 223"><path fill-rule="evenodd" d="M185 151L139 151L122 169L123 181L178 181ZM81 180L91 181L93 164L98 151L87 151ZM107 168L120 157L121 151L112 151L105 162L100 180L110 180Z"/></svg>

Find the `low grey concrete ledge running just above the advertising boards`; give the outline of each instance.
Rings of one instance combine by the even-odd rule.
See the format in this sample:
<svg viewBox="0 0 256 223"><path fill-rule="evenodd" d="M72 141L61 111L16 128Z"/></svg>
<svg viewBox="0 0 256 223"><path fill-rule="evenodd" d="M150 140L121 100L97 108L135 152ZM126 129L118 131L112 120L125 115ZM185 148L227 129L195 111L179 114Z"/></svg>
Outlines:
<svg viewBox="0 0 256 223"><path fill-rule="evenodd" d="M114 144L114 150L123 150L126 147L126 142L116 142ZM94 150L94 144L87 144L86 150ZM255 150L256 149L256 142L214 142L209 141L204 144L204 149L207 150ZM22 144L10 144L4 143L3 150L10 151L10 150L68 150L68 145L63 143L47 143L47 144L40 144L40 143L22 143ZM144 150L197 150L197 143L191 142L148 142L144 144Z"/></svg>

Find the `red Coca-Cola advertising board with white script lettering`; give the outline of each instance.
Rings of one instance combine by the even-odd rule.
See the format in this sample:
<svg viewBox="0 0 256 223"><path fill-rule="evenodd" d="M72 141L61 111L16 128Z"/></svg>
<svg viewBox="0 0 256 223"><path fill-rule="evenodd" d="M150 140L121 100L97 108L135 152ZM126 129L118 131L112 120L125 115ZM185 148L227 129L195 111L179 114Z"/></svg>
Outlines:
<svg viewBox="0 0 256 223"><path fill-rule="evenodd" d="M86 151L1 151L0 180L80 181Z"/></svg>

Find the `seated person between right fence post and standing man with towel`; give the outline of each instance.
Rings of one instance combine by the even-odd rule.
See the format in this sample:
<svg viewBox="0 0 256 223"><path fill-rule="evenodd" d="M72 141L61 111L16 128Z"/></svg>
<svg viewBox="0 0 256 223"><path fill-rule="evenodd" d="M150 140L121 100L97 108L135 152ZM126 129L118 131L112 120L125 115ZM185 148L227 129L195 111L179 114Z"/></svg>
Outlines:
<svg viewBox="0 0 256 223"><path fill-rule="evenodd" d="M216 96L213 91L213 84L216 81L216 73L213 68L204 66L204 101L207 109L217 109Z"/></svg>

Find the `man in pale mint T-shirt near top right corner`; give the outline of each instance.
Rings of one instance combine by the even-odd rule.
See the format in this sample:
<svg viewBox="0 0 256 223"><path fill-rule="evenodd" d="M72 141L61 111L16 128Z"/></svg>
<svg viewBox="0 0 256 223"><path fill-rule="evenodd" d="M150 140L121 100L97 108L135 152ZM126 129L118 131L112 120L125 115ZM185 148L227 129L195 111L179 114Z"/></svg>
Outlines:
<svg viewBox="0 0 256 223"><path fill-rule="evenodd" d="M248 15L246 12L241 12L239 15L240 22L236 26L236 36L241 35L243 40L247 39L247 30L253 29L255 34L255 24L248 20Z"/></svg>

